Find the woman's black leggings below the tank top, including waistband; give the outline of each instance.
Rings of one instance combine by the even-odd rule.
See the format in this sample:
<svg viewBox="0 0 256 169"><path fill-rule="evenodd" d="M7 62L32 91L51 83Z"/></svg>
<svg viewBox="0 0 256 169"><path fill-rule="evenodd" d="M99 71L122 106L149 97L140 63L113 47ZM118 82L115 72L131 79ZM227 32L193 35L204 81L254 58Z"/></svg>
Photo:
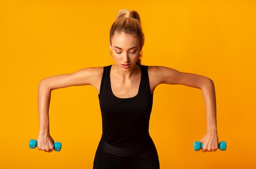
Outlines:
<svg viewBox="0 0 256 169"><path fill-rule="evenodd" d="M146 142L132 147L115 147L99 141L93 169L159 169L157 149L149 136Z"/></svg>

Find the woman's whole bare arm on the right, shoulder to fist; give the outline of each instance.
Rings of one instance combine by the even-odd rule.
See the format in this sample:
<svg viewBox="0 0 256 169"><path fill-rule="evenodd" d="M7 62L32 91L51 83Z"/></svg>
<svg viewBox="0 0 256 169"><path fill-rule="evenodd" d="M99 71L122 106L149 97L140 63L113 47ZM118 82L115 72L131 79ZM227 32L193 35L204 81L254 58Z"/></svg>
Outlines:
<svg viewBox="0 0 256 169"><path fill-rule="evenodd" d="M153 66L155 84L181 84L201 89L207 117L207 134L201 139L202 152L218 149L218 133L216 122L216 95L214 83L208 77L193 73L180 72L165 66Z"/></svg>

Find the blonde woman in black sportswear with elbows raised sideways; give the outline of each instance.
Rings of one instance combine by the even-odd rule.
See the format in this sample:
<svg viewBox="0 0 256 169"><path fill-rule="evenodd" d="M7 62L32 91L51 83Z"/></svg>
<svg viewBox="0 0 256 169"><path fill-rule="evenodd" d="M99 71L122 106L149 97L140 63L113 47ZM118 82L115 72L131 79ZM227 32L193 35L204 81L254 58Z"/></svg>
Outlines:
<svg viewBox="0 0 256 169"><path fill-rule="evenodd" d="M148 133L153 92L161 83L202 90L207 111L207 134L202 152L218 149L216 97L211 79L164 66L141 65L144 34L139 14L122 9L110 29L110 55L114 65L90 67L71 74L47 77L38 85L40 131L38 149L53 151L49 134L51 91L92 85L98 91L103 133L94 157L94 169L159 169L157 149Z"/></svg>

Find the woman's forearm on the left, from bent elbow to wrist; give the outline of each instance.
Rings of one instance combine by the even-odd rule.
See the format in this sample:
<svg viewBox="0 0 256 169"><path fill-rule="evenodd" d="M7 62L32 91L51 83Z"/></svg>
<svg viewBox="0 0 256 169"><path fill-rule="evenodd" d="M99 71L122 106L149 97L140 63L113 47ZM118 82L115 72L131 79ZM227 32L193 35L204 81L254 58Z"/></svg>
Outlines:
<svg viewBox="0 0 256 169"><path fill-rule="evenodd" d="M38 84L38 117L39 130L49 131L49 105L52 90L43 81Z"/></svg>

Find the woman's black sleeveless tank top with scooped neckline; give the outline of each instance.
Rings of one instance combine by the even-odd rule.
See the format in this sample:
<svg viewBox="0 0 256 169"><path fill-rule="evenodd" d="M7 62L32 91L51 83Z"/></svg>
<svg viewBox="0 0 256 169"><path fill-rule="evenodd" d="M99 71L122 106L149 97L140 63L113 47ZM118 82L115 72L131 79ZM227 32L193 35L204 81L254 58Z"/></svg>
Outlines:
<svg viewBox="0 0 256 169"><path fill-rule="evenodd" d="M140 65L141 80L135 97L116 97L110 86L110 69L103 67L99 104L102 117L102 138L116 147L131 147L144 143L148 137L150 113L153 105L148 66Z"/></svg>

